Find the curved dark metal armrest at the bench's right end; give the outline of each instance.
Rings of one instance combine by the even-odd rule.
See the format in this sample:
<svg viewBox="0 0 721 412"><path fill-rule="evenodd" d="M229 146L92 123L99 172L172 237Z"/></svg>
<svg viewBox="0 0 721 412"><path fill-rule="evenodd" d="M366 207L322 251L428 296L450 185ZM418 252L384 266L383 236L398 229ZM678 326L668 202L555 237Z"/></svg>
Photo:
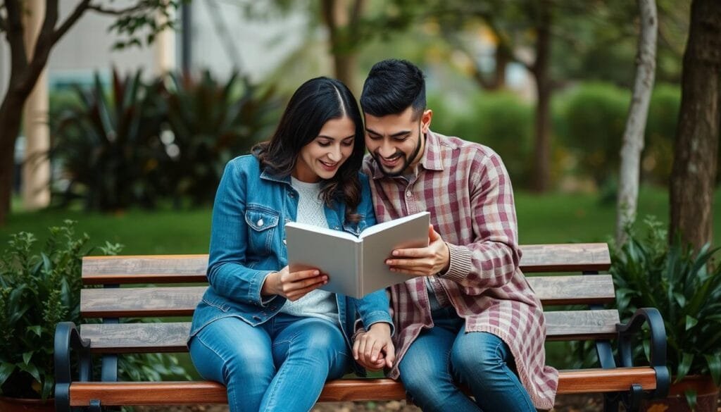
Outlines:
<svg viewBox="0 0 721 412"><path fill-rule="evenodd" d="M671 385L671 375L666 366L666 330L663 317L654 307L642 307L633 314L628 323L619 323L616 330L619 333L619 361L622 366L633 366L634 336L640 333L644 323L650 330L650 367L656 372L656 389L654 398L665 398L668 387Z"/></svg>

